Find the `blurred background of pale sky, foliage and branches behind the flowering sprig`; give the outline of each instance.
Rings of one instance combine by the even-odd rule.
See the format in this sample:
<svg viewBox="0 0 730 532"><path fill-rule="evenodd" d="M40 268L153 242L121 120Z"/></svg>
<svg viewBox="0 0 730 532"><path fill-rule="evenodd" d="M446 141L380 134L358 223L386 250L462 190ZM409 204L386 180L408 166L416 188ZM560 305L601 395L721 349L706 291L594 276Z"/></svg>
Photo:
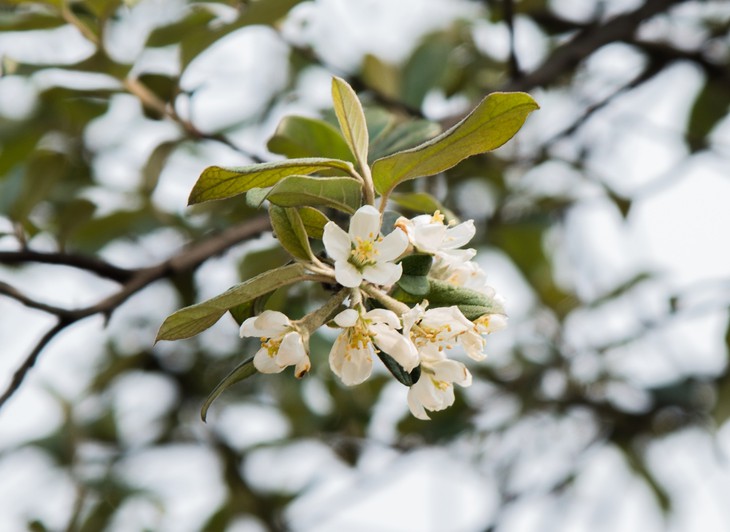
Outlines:
<svg viewBox="0 0 730 532"><path fill-rule="evenodd" d="M729 30L720 0L1 4L0 384L26 378L0 530L728 530ZM403 186L476 221L510 327L431 422L385 371L341 386L322 337L203 424L254 345L157 328L287 259L243 200L187 194L278 158L283 117L331 121L333 74L391 145L540 103Z"/></svg>

